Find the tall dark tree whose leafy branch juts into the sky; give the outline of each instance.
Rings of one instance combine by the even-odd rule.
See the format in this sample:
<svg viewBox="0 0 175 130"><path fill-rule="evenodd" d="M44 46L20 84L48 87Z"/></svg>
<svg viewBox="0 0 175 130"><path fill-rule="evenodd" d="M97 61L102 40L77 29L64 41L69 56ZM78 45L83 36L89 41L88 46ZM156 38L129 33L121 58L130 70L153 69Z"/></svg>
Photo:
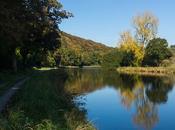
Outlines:
<svg viewBox="0 0 175 130"><path fill-rule="evenodd" d="M72 16L71 13L63 10L57 0L26 1L29 16L27 27L29 33L22 46L21 53L24 65L41 65L42 59L47 57L48 50L55 50L60 47L60 31L58 24L62 19ZM31 13L32 12L32 13ZM32 56L27 57L30 54ZM40 60L38 60L40 59ZM36 62L33 62L36 61Z"/></svg>

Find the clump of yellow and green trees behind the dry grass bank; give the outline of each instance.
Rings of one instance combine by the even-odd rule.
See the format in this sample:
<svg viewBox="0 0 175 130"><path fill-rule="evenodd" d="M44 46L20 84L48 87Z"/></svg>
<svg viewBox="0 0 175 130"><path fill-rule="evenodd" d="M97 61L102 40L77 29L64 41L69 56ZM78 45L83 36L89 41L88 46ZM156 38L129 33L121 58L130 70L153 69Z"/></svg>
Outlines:
<svg viewBox="0 0 175 130"><path fill-rule="evenodd" d="M158 18L150 12L133 18L134 35L125 31L118 47L104 55L103 66L160 66L172 57L172 49L164 38L157 37Z"/></svg>

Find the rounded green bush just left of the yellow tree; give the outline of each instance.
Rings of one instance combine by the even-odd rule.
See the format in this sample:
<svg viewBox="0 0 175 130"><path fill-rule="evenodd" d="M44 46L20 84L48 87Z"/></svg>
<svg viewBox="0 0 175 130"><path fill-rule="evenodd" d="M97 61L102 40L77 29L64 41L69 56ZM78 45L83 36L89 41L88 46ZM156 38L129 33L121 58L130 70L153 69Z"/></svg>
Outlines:
<svg viewBox="0 0 175 130"><path fill-rule="evenodd" d="M123 53L119 49L112 50L103 56L102 66L105 68L119 67L123 60Z"/></svg>

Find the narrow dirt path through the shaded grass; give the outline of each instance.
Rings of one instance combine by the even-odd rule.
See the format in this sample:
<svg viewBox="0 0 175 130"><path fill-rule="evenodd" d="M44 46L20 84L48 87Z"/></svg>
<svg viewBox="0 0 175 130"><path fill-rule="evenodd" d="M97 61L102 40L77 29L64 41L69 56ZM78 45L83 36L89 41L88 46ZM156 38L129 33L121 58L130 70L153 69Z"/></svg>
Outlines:
<svg viewBox="0 0 175 130"><path fill-rule="evenodd" d="M5 92L4 95L0 97L0 113L5 109L6 105L14 96L14 94L23 86L23 84L28 80L29 78L22 79L20 81L17 81L15 85L13 85L9 90Z"/></svg>

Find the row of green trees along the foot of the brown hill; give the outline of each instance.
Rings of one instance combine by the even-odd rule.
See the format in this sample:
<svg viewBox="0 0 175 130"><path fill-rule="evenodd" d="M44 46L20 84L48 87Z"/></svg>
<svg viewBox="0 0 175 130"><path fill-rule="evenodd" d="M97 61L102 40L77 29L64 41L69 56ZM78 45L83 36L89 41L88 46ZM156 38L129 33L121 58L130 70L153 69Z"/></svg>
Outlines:
<svg viewBox="0 0 175 130"><path fill-rule="evenodd" d="M60 64L63 66L82 67L90 65L100 65L102 63L101 52L88 52L88 50L82 50L78 48L61 47L56 51L54 57L55 60L60 58Z"/></svg>

